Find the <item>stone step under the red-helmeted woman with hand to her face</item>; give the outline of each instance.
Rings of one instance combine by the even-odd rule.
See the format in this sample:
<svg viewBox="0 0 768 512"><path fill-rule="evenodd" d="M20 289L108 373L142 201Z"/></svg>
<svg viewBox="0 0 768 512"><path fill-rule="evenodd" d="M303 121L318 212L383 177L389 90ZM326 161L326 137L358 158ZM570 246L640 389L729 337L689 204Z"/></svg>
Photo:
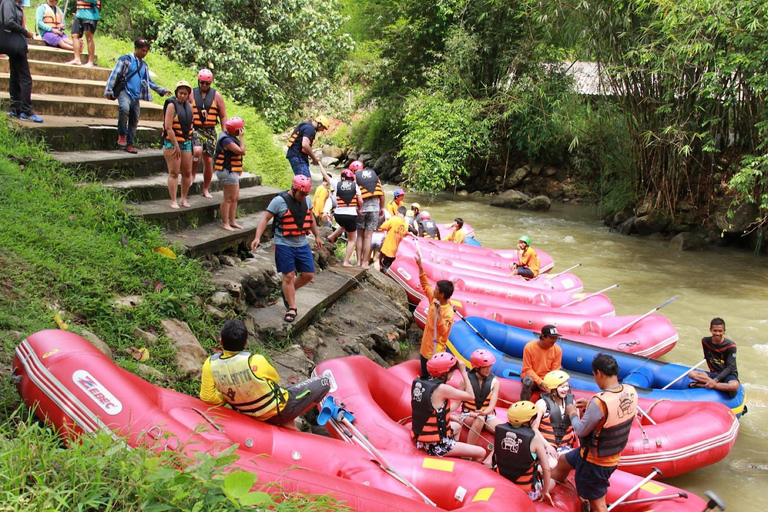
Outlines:
<svg viewBox="0 0 768 512"><path fill-rule="evenodd" d="M196 229L170 234L168 240L178 243L183 247L185 254L195 258L219 254L230 249L237 252L241 243L245 244L245 247L250 246L263 216L264 212L257 212L238 217L237 223L243 226L243 229L237 231L227 231L219 222L210 222Z"/></svg>

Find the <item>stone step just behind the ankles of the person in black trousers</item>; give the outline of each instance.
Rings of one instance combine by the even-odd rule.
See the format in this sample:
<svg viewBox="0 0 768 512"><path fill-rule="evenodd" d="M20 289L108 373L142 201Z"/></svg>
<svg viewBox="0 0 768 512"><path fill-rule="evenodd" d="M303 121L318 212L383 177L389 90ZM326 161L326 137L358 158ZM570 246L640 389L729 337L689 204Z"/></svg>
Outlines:
<svg viewBox="0 0 768 512"><path fill-rule="evenodd" d="M0 92L0 103L8 110L10 95ZM32 108L41 116L59 115L67 117L103 117L117 121L117 101L106 98L78 98L53 94L32 94ZM163 120L163 106L156 103L141 102L141 119Z"/></svg>

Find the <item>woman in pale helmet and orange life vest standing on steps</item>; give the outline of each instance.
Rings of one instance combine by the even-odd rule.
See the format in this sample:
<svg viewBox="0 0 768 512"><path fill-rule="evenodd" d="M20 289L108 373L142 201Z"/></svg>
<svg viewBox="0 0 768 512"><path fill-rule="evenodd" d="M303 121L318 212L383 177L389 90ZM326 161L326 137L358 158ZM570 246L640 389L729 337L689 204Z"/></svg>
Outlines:
<svg viewBox="0 0 768 512"><path fill-rule="evenodd" d="M163 157L168 165L168 193L171 208L179 209L176 189L181 174L181 206L189 208L187 194L192 185L192 105L189 95L192 87L185 81L176 84L175 96L165 100L163 106Z"/></svg>

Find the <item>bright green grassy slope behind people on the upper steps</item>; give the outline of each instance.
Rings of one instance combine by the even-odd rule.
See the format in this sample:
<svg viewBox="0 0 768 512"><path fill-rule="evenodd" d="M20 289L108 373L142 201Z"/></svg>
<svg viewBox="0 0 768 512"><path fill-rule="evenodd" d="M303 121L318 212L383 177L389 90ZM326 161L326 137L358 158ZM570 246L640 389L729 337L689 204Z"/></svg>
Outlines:
<svg viewBox="0 0 768 512"><path fill-rule="evenodd" d="M117 59L133 52L133 43L96 34L96 54L99 65L114 67ZM197 83L197 69L191 69L168 59L154 50L146 58L149 70L156 76L155 83L173 89L176 82L186 80L193 86ZM215 78L214 78L215 79ZM216 84L214 83L214 86ZM281 189L289 188L293 172L285 159L281 145L276 143L272 130L264 122L263 116L252 107L238 105L227 98L227 91L220 91L227 106L229 117L241 117L245 121L246 157L244 167L247 172L259 174L264 185ZM155 103L162 105L165 98L153 94Z"/></svg>

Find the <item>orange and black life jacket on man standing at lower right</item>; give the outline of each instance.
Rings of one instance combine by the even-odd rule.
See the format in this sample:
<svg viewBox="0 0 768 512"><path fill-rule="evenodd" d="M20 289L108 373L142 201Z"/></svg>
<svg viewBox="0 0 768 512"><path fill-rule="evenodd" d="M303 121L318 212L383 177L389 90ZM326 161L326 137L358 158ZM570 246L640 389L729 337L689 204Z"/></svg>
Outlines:
<svg viewBox="0 0 768 512"><path fill-rule="evenodd" d="M582 457L598 466L618 465L621 450L627 446L629 431L637 414L637 391L628 384L620 389L595 395L605 406L601 424L582 439Z"/></svg>

